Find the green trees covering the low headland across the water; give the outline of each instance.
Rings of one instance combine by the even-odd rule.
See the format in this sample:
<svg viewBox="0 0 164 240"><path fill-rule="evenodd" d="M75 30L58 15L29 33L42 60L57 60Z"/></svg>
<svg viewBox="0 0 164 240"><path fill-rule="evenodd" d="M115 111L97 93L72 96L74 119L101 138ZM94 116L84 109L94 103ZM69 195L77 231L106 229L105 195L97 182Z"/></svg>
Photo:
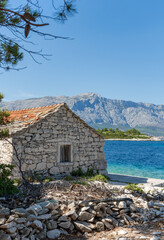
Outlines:
<svg viewBox="0 0 164 240"><path fill-rule="evenodd" d="M112 128L103 128L103 129L97 129L97 132L102 135L106 139L132 139L132 138L141 138L141 139L149 139L149 136L146 136L142 133L140 133L137 129L133 128L130 130L127 130L126 132L120 130L119 128L116 128L115 130Z"/></svg>

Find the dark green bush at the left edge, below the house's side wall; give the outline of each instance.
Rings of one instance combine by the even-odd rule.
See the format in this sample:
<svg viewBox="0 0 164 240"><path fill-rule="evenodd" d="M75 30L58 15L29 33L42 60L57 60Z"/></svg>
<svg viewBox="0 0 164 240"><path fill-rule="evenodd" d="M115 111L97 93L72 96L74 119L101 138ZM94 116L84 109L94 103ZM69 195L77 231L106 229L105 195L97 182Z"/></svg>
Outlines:
<svg viewBox="0 0 164 240"><path fill-rule="evenodd" d="M0 164L0 196L12 195L18 192L11 179L13 165Z"/></svg>

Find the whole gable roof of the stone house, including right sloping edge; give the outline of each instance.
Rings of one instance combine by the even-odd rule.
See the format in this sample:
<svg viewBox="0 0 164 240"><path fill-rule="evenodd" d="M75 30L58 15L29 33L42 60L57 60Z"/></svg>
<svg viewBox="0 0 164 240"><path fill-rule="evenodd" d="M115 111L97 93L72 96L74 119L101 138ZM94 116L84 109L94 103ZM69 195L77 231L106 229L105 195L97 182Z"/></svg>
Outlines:
<svg viewBox="0 0 164 240"><path fill-rule="evenodd" d="M10 111L9 120L14 120L15 128L14 132L26 128L32 124L35 124L40 119L45 118L48 114L56 112L60 107L64 106L72 115L84 124L85 127L89 128L93 133L95 133L100 138L104 139L94 128L90 127L85 121L83 121L79 116L77 116L72 110L67 106L66 103L54 104L45 107L28 108L23 110Z"/></svg>

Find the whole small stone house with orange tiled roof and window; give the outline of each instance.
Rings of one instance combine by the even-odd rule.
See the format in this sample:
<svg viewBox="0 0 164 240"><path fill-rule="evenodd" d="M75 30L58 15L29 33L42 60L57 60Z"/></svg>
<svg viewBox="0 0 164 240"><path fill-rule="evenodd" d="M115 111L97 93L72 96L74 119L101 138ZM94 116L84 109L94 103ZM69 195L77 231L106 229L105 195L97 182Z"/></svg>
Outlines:
<svg viewBox="0 0 164 240"><path fill-rule="evenodd" d="M107 173L104 139L65 103L11 111L10 119L10 137L0 140L1 163L17 165L19 157L23 171L45 175L66 175L79 167Z"/></svg>

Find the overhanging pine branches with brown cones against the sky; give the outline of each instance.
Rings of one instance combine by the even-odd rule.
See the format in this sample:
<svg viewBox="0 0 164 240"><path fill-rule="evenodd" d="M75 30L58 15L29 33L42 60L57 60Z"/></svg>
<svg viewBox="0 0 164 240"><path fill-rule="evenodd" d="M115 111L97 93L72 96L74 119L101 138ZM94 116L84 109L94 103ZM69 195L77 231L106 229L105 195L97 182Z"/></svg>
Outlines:
<svg viewBox="0 0 164 240"><path fill-rule="evenodd" d="M37 62L35 56L46 58L48 55L42 54L42 51L29 49L25 38L32 32L45 39L48 36L53 39L62 38L50 32L45 33L44 30L42 32L40 27L52 23L50 19L59 23L65 22L68 17L76 13L74 0L52 1L54 12L47 16L41 1L26 0L20 4L18 2L11 1L8 4L9 0L0 0L0 68L5 70L16 69L15 65L23 59L24 53L28 53L35 62Z"/></svg>

